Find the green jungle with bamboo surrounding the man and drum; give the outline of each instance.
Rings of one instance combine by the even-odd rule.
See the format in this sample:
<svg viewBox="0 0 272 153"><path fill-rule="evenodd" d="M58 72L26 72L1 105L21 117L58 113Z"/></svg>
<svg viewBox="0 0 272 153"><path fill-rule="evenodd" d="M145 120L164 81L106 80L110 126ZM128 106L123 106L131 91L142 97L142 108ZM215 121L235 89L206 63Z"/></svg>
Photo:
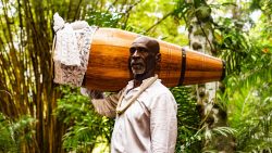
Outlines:
<svg viewBox="0 0 272 153"><path fill-rule="evenodd" d="M0 153L110 151L114 120L96 114L78 88L53 84L55 12L66 22L210 50L225 61L208 113L198 86L171 88L177 153L272 152L272 1L1 0Z"/></svg>

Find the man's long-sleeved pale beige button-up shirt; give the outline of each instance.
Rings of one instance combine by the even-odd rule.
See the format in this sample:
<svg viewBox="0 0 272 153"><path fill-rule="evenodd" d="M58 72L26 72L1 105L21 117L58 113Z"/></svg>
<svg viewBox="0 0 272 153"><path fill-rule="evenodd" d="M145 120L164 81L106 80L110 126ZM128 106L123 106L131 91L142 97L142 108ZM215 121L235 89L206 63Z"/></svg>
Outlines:
<svg viewBox="0 0 272 153"><path fill-rule="evenodd" d="M144 80L143 84L146 82ZM115 117L111 153L173 153L177 106L172 93L158 79L123 114L116 116L115 107L121 94L124 92L122 104L125 104L140 90L140 87L132 88L133 81L129 81L118 94L92 100L98 113Z"/></svg>

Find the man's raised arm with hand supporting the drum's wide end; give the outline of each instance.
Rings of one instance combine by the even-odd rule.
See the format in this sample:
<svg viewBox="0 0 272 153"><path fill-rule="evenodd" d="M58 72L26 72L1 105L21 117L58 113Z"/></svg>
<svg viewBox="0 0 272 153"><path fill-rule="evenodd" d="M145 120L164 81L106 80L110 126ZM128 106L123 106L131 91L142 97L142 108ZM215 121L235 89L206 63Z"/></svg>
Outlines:
<svg viewBox="0 0 272 153"><path fill-rule="evenodd" d="M83 94L87 93L97 113L107 117L115 117L116 115L115 110L121 92L104 97L103 92L100 91L96 90L84 91L84 90L86 89L83 89L82 93Z"/></svg>

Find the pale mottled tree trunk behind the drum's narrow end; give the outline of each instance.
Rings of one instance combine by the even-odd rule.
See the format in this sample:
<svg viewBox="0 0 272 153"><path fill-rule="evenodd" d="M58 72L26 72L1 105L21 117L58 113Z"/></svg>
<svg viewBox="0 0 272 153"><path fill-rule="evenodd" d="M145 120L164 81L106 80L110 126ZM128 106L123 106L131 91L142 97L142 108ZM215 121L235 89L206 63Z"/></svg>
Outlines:
<svg viewBox="0 0 272 153"><path fill-rule="evenodd" d="M189 47L196 51L214 55L212 44L211 10L206 2L194 3L195 16L189 22ZM227 127L226 110L217 101L217 90L221 82L208 82L196 86L197 105L201 118L201 127L205 129L203 151L217 150L221 153L233 153L235 143L232 136L209 137L218 127Z"/></svg>

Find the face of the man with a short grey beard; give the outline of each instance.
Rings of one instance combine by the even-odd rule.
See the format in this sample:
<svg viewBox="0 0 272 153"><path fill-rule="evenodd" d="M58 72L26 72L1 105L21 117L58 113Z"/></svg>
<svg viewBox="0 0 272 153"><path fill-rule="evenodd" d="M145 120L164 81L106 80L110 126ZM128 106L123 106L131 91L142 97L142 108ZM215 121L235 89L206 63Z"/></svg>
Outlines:
<svg viewBox="0 0 272 153"><path fill-rule="evenodd" d="M129 49L129 66L134 75L144 75L149 71L154 71L156 55L158 52L153 51L148 43L148 39L137 39Z"/></svg>

